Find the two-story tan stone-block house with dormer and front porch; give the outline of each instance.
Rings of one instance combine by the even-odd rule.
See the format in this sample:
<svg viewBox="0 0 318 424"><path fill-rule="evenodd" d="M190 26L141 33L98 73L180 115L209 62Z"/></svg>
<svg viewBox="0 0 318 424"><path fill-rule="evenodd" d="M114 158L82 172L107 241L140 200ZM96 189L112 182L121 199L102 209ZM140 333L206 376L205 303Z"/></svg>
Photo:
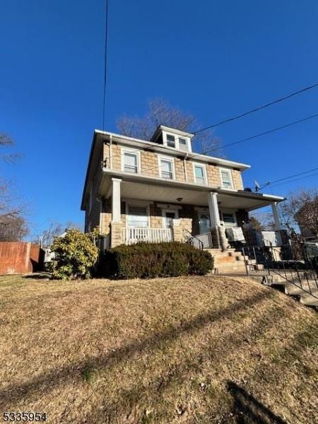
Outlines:
<svg viewBox="0 0 318 424"><path fill-rule="evenodd" d="M81 209L85 230L96 226L104 248L148 242L202 240L223 247L226 228L271 205L281 230L281 196L244 189L249 165L192 153L193 134L159 126L151 141L95 130Z"/></svg>

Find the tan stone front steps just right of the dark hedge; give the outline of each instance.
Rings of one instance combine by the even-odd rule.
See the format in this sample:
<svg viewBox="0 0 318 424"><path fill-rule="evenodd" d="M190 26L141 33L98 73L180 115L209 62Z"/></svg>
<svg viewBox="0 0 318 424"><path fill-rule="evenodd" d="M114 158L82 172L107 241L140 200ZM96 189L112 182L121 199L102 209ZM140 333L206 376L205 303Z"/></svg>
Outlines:
<svg viewBox="0 0 318 424"><path fill-rule="evenodd" d="M254 259L245 257L242 252L236 252L235 249L206 249L214 258L213 273L246 273L246 267L249 271L256 269L261 271L262 265L258 265Z"/></svg>

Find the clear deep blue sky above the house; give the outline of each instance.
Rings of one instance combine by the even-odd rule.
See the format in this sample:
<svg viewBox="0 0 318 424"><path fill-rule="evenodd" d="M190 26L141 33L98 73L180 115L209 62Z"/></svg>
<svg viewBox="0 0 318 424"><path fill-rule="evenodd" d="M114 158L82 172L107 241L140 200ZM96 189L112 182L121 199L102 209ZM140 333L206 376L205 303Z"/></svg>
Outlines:
<svg viewBox="0 0 318 424"><path fill-rule="evenodd" d="M318 3L110 0L106 129L164 98L218 122L318 82ZM1 1L0 131L24 158L0 164L32 232L83 223L83 180L102 126L105 1ZM318 89L216 129L222 143L318 113ZM225 150L245 186L317 167L318 119ZM273 187L286 195L318 176ZM271 190L269 190L271 192Z"/></svg>

